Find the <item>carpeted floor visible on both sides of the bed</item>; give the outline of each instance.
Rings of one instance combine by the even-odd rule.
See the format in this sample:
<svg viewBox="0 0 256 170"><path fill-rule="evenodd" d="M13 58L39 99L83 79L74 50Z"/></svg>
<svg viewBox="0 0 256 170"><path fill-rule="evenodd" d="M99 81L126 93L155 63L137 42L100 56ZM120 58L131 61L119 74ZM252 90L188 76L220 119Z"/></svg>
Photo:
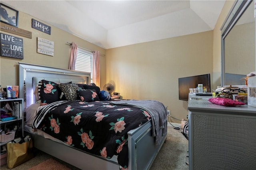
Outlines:
<svg viewBox="0 0 256 170"><path fill-rule="evenodd" d="M173 125L179 126L179 124L175 123L173 123ZM187 150L188 140L183 136L181 130L175 130L172 125L168 124L168 136L166 142L160 149L150 170L188 170L188 165L186 165L185 162ZM42 170L79 170L78 168L41 151L38 151L36 156L31 160L24 162L12 170L41 170L38 168L38 166L40 167L42 165L41 163L43 163ZM50 166L46 166L48 164ZM6 168L6 165L1 166L0 169L9 170Z"/></svg>

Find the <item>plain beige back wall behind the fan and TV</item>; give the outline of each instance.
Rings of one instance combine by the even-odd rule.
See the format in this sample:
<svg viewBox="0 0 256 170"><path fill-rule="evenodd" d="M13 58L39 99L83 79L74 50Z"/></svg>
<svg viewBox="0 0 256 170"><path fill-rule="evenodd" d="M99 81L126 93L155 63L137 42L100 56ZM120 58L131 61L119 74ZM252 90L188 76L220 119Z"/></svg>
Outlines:
<svg viewBox="0 0 256 170"><path fill-rule="evenodd" d="M212 47L208 31L107 49L106 83L123 99L158 100L171 116L186 119L188 103L178 99L178 78L212 74Z"/></svg>

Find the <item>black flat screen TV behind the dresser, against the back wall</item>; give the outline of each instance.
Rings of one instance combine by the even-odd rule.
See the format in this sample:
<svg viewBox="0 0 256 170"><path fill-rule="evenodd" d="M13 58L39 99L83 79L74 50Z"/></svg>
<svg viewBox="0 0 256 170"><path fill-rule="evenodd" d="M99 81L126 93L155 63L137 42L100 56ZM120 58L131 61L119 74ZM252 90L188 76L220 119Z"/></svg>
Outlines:
<svg viewBox="0 0 256 170"><path fill-rule="evenodd" d="M179 99L188 101L189 89L196 88L198 84L203 84L203 87L207 88L207 92L210 92L210 74L179 78Z"/></svg>

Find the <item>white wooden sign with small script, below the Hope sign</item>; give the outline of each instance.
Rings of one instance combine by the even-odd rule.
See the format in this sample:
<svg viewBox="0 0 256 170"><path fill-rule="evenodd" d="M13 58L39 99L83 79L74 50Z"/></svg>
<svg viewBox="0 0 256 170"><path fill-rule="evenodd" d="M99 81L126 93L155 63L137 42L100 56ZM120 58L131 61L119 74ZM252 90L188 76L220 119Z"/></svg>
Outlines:
<svg viewBox="0 0 256 170"><path fill-rule="evenodd" d="M38 37L37 52L45 55L54 55L54 42Z"/></svg>

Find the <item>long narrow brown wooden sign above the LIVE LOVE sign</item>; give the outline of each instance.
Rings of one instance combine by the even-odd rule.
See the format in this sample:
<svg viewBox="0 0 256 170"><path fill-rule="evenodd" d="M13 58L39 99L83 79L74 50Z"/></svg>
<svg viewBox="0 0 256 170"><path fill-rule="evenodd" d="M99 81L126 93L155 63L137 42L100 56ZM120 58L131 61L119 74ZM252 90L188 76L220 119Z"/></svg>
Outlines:
<svg viewBox="0 0 256 170"><path fill-rule="evenodd" d="M5 24L1 22L1 31L9 32L12 34L16 34L18 36L26 37L26 38L32 38L32 32L27 30L22 30L20 28Z"/></svg>

